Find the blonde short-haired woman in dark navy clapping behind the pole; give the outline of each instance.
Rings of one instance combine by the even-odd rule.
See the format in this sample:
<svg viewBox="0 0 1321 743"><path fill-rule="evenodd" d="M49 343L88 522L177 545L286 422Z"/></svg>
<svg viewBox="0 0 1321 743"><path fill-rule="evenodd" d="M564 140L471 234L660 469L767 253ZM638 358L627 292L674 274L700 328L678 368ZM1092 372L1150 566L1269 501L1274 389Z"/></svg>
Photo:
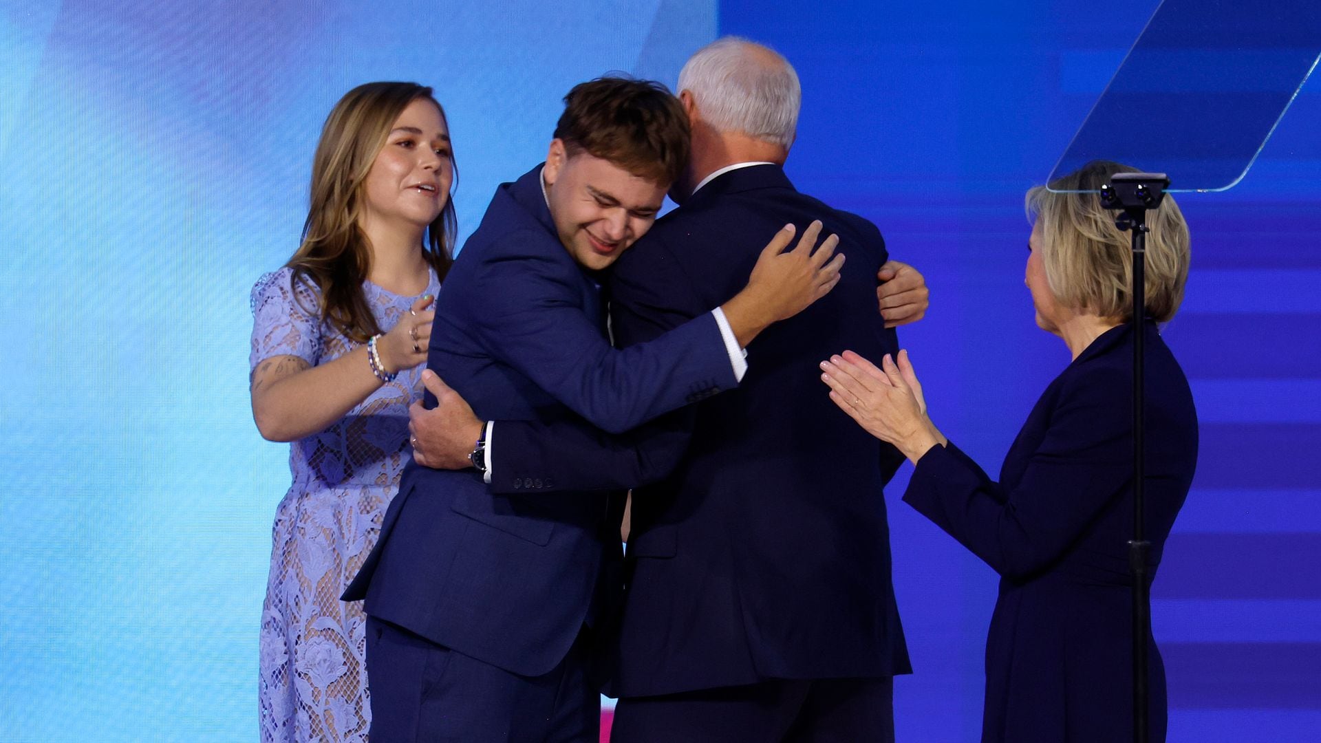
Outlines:
<svg viewBox="0 0 1321 743"><path fill-rule="evenodd" d="M1092 163L1061 182L1092 190L1131 168ZM915 464L904 500L1000 579L987 637L984 742L1132 736L1132 344L1128 234L1094 193L1028 193L1036 223L1026 284L1037 325L1073 362L1046 387L993 481L926 415L908 353L877 369L845 352L822 364L830 397ZM1193 481L1197 412L1156 323L1188 278L1188 226L1173 198L1147 237L1144 477L1151 575ZM1165 739L1165 673L1148 636L1151 740Z"/></svg>

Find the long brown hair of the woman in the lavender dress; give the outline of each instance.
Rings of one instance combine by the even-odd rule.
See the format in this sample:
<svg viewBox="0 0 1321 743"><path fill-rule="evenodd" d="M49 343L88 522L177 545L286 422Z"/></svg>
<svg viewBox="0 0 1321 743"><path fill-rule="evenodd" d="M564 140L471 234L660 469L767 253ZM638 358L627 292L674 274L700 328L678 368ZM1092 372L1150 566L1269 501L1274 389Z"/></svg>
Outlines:
<svg viewBox="0 0 1321 743"><path fill-rule="evenodd" d="M320 290L321 321L359 342L380 332L362 291L371 271L367 235L358 226L363 182L395 120L417 99L433 103L441 120L446 120L431 89L412 82L369 82L336 103L312 160L312 198L303 243L287 263L293 268L295 284L309 282ZM456 167L456 180L457 172ZM457 226L454 204L446 200L427 227L423 256L440 279L453 262Z"/></svg>

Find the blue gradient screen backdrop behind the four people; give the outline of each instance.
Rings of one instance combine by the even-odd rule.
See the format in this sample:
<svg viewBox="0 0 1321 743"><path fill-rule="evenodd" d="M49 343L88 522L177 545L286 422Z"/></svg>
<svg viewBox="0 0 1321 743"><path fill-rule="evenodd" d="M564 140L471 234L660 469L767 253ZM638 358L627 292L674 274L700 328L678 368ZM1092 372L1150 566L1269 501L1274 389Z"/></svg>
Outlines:
<svg viewBox="0 0 1321 743"><path fill-rule="evenodd" d="M995 469L1067 362L1032 323L1022 192L1156 4L0 0L0 740L255 739L288 471L250 416L247 297L296 247L349 87L436 87L466 233L573 83L672 85L717 33L771 44L803 81L790 176L927 275L905 344ZM1181 198L1194 268L1166 336L1203 440L1153 592L1172 742L1321 736L1316 91L1243 184ZM974 740L995 576L898 502L906 476L898 735Z"/></svg>

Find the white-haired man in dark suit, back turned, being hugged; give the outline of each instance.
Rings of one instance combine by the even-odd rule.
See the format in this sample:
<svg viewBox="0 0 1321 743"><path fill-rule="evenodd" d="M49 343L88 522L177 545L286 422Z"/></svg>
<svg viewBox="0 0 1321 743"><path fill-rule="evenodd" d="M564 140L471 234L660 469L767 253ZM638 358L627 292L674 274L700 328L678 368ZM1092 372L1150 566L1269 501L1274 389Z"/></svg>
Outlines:
<svg viewBox="0 0 1321 743"><path fill-rule="evenodd" d="M785 176L799 86L782 57L721 40L688 61L679 87L694 131L671 192L682 206L610 272L616 341L649 342L737 291L760 250L748 235L771 225L822 219L851 271L748 348L732 393L625 436L497 422L491 490L528 477L552 489L643 485L626 598L604 641L616 740L888 740L892 677L910 666L881 488L902 456L859 435L816 389L816 361L832 348L898 350L875 304L885 245L871 222ZM921 316L917 284L882 286L882 308ZM421 461L457 465L436 423L464 419L462 401L428 383L450 415L413 416Z"/></svg>

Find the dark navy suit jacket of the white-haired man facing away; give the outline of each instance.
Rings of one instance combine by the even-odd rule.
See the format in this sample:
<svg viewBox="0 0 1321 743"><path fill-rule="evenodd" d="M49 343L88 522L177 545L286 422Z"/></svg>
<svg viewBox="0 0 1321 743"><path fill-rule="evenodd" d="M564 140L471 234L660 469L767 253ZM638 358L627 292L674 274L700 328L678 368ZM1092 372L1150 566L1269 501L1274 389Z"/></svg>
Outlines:
<svg viewBox="0 0 1321 743"><path fill-rule="evenodd" d="M843 279L749 345L737 390L622 438L495 424L497 489L650 483L634 490L612 695L910 672L881 497L902 456L835 407L818 369L839 349L897 349L876 305L876 226L798 193L779 167L724 173L618 260L613 329L627 346L682 327L745 286L775 230L812 219L839 234Z"/></svg>

